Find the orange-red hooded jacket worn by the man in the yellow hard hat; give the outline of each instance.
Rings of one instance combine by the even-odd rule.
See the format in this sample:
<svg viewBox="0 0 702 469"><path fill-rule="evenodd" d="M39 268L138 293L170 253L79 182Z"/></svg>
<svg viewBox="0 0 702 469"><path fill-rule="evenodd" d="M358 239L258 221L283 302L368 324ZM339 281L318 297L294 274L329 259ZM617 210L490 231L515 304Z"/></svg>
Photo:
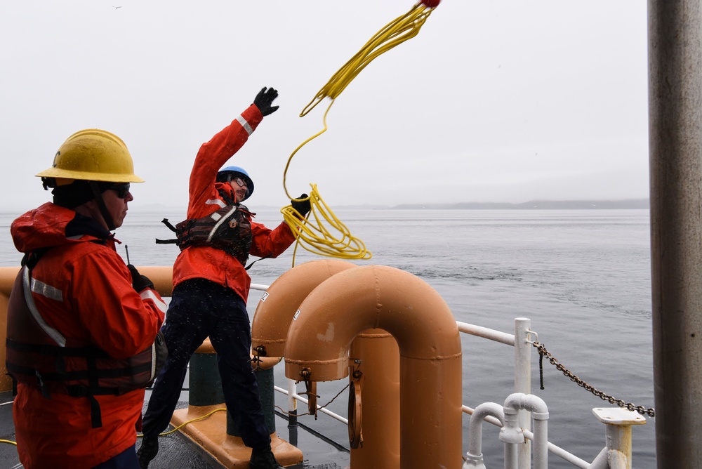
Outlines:
<svg viewBox="0 0 702 469"><path fill-rule="evenodd" d="M134 291L114 237L95 220L47 203L17 218L11 234L20 252L51 248L32 270L37 282L32 297L46 323L66 338L66 347L93 345L121 359L154 343L166 304L157 291ZM100 239L105 244L95 242ZM39 387L18 383L13 418L22 465L92 468L133 446L144 390L95 398L99 428L92 428L88 397L53 392L47 399Z"/></svg>

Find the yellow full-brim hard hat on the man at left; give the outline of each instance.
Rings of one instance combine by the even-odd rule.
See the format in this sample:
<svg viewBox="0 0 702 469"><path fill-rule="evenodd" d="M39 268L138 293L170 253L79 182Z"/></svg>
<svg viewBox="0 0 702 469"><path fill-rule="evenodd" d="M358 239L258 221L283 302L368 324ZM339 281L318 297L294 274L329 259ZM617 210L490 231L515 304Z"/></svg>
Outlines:
<svg viewBox="0 0 702 469"><path fill-rule="evenodd" d="M144 182L134 174L131 154L121 138L98 128L88 128L67 138L56 152L51 168L37 176L110 183Z"/></svg>

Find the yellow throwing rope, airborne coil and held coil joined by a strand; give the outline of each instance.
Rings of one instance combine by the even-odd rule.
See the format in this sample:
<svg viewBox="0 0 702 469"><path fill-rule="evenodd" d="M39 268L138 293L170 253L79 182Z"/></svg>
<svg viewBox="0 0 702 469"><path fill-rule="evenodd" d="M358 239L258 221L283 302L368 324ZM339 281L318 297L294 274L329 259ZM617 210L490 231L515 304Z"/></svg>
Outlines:
<svg viewBox="0 0 702 469"><path fill-rule="evenodd" d="M307 140L301 143L290 155L285 165L283 188L289 199L293 199L297 202L303 202L305 200L295 199L289 194L286 186L288 168L293 156L295 156L300 148L310 142L310 140L326 132L326 114L329 114L334 100L371 60L389 51L398 44L402 44L402 42L407 39L415 37L419 33L419 29L424 25L424 22L429 18L433 9L439 4L439 1L440 0L422 0L420 3L413 6L408 13L396 18L390 22L390 24L383 27L383 29L380 29L380 32L376 33L356 55L346 62L345 65L331 77L329 82L319 90L312 101L305 106L303 112L300 113L300 117L307 115L307 113L322 102L324 98L331 98L331 103L329 103L329 107L326 108L322 119L324 124L322 131L319 131L314 134L314 136L307 138ZM303 249L321 256L344 259L370 259L371 256L373 256L371 251L366 250L365 244L360 239L353 237L346 225L336 218L333 211L331 211L329 206L322 200L322 196L319 195L317 185L310 184L310 186L312 187L312 192L310 192L309 197L310 213L312 214L312 218L314 218L314 225L310 223L310 213L307 213L307 216L303 218L298 211L293 209L292 205L284 206L281 209L284 220L290 226L297 239L294 253L297 252L298 246L303 246ZM322 220L329 223L332 231L336 233L323 227ZM295 265L294 253L293 265Z"/></svg>

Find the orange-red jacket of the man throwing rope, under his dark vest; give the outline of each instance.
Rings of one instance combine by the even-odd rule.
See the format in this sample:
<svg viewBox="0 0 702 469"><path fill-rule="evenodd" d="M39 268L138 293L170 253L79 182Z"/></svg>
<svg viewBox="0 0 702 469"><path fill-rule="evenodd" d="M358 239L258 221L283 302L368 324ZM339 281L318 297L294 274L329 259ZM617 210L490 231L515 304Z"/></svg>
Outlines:
<svg viewBox="0 0 702 469"><path fill-rule="evenodd" d="M204 143L195 157L190 173L190 201L187 218L209 216L227 204L219 190L228 192L234 200L234 191L229 184L216 183L217 173L228 159L244 146L256 130L263 114L256 105L249 106L232 124ZM282 222L274 230L251 221L251 254L257 257L277 257L295 241L290 227ZM244 300L249 297L251 277L239 260L220 249L209 246L185 248L173 265L173 286L187 279L208 279L227 286Z"/></svg>

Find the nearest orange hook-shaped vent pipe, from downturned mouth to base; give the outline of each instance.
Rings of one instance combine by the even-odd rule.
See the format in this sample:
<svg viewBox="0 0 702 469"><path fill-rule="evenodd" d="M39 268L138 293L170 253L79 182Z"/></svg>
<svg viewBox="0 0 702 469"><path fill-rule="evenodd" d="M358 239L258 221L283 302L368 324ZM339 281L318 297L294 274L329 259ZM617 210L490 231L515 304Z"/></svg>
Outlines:
<svg viewBox="0 0 702 469"><path fill-rule="evenodd" d="M449 307L418 277L370 265L320 284L288 332L286 376L345 378L351 343L366 329L388 331L399 348L400 468L460 469L461 340Z"/></svg>

